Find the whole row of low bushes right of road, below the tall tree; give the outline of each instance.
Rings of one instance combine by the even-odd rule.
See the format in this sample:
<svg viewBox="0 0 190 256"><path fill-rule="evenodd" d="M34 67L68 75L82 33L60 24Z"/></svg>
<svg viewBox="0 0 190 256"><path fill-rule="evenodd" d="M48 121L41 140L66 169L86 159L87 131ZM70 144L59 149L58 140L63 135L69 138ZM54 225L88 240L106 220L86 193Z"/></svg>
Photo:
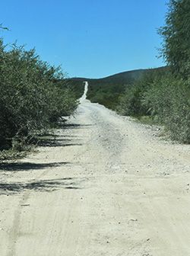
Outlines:
<svg viewBox="0 0 190 256"><path fill-rule="evenodd" d="M128 87L117 107L120 114L150 116L152 123L161 123L173 139L190 142L190 80L172 74L147 72Z"/></svg>

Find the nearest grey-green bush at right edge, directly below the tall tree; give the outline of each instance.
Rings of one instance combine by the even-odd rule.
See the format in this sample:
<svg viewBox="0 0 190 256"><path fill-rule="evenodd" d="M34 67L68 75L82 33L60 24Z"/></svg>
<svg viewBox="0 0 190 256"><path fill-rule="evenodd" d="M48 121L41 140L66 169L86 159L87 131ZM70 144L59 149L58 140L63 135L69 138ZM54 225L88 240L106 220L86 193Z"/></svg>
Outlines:
<svg viewBox="0 0 190 256"><path fill-rule="evenodd" d="M169 130L173 139L190 142L190 81L163 77L144 92L143 104Z"/></svg>

